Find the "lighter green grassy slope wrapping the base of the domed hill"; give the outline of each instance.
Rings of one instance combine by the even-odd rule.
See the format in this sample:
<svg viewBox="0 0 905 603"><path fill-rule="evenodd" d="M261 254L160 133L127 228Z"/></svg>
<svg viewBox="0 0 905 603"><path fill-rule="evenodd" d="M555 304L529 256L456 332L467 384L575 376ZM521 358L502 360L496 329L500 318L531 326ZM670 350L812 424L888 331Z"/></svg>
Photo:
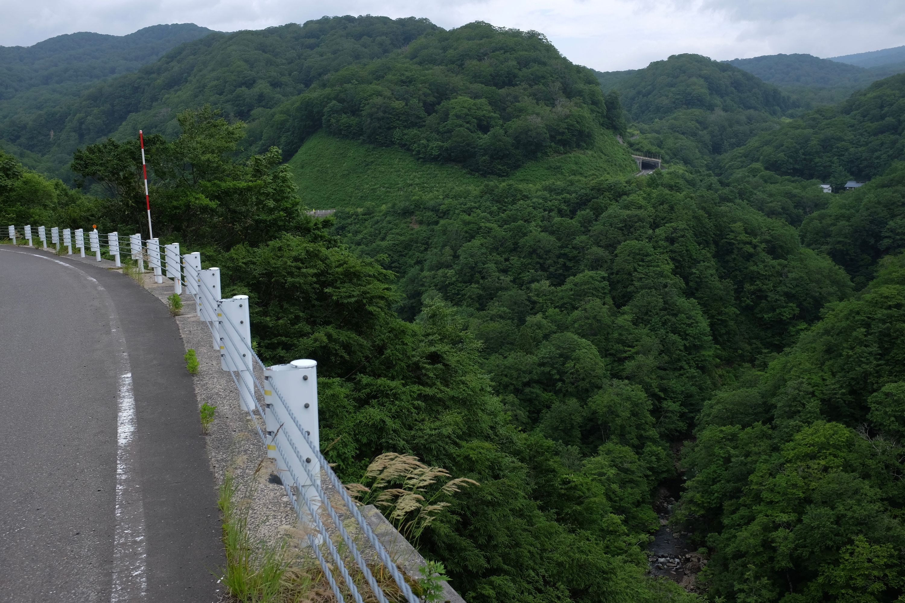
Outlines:
<svg viewBox="0 0 905 603"><path fill-rule="evenodd" d="M411 199L462 199L488 182L458 165L415 159L399 148L380 148L319 131L288 162L303 202L313 209L358 209ZM595 146L544 157L500 182L548 184L633 174L637 165L614 135L601 131ZM495 179L491 179L491 182Z"/></svg>

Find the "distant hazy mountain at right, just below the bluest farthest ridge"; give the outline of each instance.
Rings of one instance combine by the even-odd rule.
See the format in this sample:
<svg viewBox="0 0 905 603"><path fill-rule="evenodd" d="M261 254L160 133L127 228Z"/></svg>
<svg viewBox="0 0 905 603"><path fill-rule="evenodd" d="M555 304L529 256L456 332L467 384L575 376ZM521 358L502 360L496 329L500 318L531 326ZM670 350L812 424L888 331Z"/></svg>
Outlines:
<svg viewBox="0 0 905 603"><path fill-rule="evenodd" d="M905 58L902 61L870 69L810 54L769 54L726 62L776 84L807 105L820 105L841 102L872 81L905 71Z"/></svg>

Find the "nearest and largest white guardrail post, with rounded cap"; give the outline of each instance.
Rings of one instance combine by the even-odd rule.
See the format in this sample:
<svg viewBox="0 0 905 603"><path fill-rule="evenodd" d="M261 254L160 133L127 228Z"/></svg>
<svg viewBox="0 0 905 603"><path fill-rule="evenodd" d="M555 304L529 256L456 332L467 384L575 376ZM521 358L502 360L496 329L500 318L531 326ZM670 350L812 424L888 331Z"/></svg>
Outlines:
<svg viewBox="0 0 905 603"><path fill-rule="evenodd" d="M317 367L318 363L313 360L293 360L289 364L274 364L264 369L264 401L267 405L264 421L267 426L267 435L271 439L267 445L267 456L276 459L278 469L284 472L291 469L292 473L299 477L301 486L305 490L305 496L315 508L320 506L318 495L320 463L317 455L311 452L305 438L301 437L295 422L289 419L289 410L296 419L299 419L299 424L302 429L305 429L311 443L319 447ZM287 409L280 397L274 395L272 389L268 387L271 383L281 392L286 404L291 407L290 409ZM275 417L279 417L282 423L278 425ZM300 456L287 454L288 459L284 460L277 453L277 445L279 444L282 450L289 451L292 449L290 440L298 448ZM283 466L287 461L295 466ZM311 476L314 476L317 487L311 483L302 464L307 466ZM308 513L307 510L305 513ZM311 524L311 518L308 518L307 521Z"/></svg>

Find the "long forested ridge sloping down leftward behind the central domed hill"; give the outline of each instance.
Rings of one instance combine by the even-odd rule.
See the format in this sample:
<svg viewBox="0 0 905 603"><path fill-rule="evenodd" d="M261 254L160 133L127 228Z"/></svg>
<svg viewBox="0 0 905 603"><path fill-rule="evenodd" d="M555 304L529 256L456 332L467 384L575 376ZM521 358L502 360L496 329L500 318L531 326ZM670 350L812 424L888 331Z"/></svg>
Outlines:
<svg viewBox="0 0 905 603"><path fill-rule="evenodd" d="M176 115L205 102L247 119L253 129L267 109L315 80L394 52L434 27L414 18L325 17L304 26L213 33L78 98L0 122L0 141L37 155L32 163L44 171L71 178L68 164L78 146L134 137L139 129L173 136Z"/></svg>

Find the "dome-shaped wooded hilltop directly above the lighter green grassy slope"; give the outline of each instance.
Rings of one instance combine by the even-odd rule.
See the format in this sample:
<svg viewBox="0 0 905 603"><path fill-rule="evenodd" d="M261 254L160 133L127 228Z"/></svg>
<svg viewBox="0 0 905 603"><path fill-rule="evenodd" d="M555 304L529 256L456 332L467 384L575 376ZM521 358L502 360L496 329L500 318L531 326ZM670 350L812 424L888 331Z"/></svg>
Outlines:
<svg viewBox="0 0 905 603"><path fill-rule="evenodd" d="M404 52L312 84L277 108L259 144L294 152L325 127L505 175L539 156L592 148L601 127L617 127L614 116L618 99L605 99L593 73L542 35L475 23L425 33Z"/></svg>

